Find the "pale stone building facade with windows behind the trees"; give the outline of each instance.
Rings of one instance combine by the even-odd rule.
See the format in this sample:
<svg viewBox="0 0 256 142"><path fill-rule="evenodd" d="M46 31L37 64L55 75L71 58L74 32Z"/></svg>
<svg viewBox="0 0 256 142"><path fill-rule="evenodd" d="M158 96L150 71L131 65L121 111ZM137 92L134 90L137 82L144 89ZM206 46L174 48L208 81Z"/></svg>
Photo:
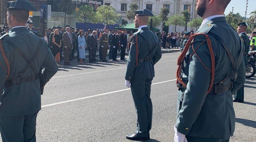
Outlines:
<svg viewBox="0 0 256 142"><path fill-rule="evenodd" d="M129 10L129 4L137 2L139 5L139 10L148 9L152 11L153 14L158 15L160 13L160 9L162 7L167 7L170 11L168 17L174 14L180 14L184 10L188 10L191 14L191 20L195 18L199 18L199 16L195 12L196 1L195 0L104 0L104 5L111 5L115 7L116 13L122 16L122 19L127 20L131 23L131 20L126 18L127 11ZM164 26L162 29L162 24L159 27L160 31L168 31L174 32L174 26ZM177 32L182 32L185 30L185 27L176 27ZM190 30L187 27L187 30Z"/></svg>

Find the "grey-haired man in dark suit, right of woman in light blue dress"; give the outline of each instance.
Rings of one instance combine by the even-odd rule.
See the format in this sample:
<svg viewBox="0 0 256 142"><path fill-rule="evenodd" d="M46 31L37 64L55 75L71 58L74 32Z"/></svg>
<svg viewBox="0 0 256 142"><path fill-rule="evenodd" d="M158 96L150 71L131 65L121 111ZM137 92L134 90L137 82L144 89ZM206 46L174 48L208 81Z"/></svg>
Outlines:
<svg viewBox="0 0 256 142"><path fill-rule="evenodd" d="M96 48L97 48L97 38L96 38L97 32L96 31L92 31L92 34L90 35L89 38L89 62L90 63L95 63L94 59L95 59L95 55L96 55Z"/></svg>

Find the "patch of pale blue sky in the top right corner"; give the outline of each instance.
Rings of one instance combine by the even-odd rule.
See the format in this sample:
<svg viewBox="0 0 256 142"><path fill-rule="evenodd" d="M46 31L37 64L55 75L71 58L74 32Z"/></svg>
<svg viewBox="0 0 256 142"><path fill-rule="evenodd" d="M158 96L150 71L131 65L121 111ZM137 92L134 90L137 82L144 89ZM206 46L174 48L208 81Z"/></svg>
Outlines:
<svg viewBox="0 0 256 142"><path fill-rule="evenodd" d="M249 14L256 8L256 0L249 0L247 6L246 17L249 17ZM226 8L225 14L231 12L232 7L234 7L234 13L239 12L241 16L245 16L246 0L231 0L228 7Z"/></svg>

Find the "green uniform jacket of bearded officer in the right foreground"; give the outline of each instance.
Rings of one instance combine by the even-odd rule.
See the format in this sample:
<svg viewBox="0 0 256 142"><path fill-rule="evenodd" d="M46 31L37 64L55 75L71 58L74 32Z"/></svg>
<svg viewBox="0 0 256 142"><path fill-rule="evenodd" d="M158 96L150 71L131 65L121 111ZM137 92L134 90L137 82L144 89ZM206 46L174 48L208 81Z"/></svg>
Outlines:
<svg viewBox="0 0 256 142"><path fill-rule="evenodd" d="M208 31L220 36L228 45L228 48L237 61L241 51L241 41L238 34L226 22L225 17L213 18L203 25L197 33L208 33ZM223 82L222 85L228 85L234 78L231 61L218 40L209 35L215 58L214 82L217 83L226 78L230 72L233 77ZM194 48L199 46L205 40L205 36L199 35L194 39ZM182 78L187 80L187 89L184 94L178 92L178 100L182 100L181 110L178 113L176 122L177 131L194 137L214 137L219 139L229 139L235 129L235 111L233 108L234 94L245 82L245 64L242 60L238 68L238 77L233 82L233 88L223 94L208 94L211 73L205 69L200 60L189 49L183 62ZM211 59L207 43L204 42L196 51L198 57L208 69L211 69Z"/></svg>

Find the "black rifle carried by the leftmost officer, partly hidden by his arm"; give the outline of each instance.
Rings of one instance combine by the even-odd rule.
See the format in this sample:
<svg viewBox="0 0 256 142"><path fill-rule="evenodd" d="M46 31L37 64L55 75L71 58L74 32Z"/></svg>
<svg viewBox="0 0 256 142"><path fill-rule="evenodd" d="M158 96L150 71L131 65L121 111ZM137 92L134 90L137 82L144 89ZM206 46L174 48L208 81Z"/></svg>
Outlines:
<svg viewBox="0 0 256 142"><path fill-rule="evenodd" d="M40 35L42 35L43 37L46 36L45 35L45 29L46 29L46 22L44 21L45 19L45 14L46 14L46 9L44 7L44 11L43 11L43 17L42 17L42 20L41 20L41 23L40 23ZM38 78L40 80L40 89L41 89L41 95L43 94L44 92L44 85L46 84L45 82L45 73L44 73L44 70L43 70L43 66L41 66L40 70L39 70L39 73L37 74L38 75Z"/></svg>

